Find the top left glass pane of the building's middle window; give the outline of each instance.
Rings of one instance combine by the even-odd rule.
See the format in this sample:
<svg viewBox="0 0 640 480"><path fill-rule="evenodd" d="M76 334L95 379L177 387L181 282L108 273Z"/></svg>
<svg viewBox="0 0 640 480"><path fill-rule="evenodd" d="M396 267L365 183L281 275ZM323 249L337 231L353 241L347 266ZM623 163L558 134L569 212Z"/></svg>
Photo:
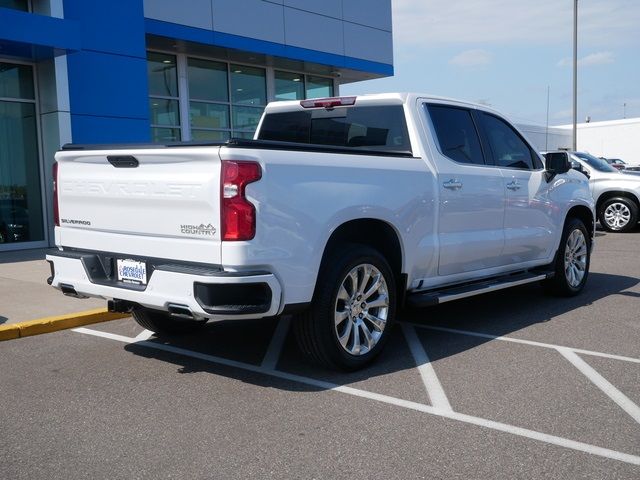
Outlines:
<svg viewBox="0 0 640 480"><path fill-rule="evenodd" d="M229 101L227 64L196 58L189 59L189 98Z"/></svg>

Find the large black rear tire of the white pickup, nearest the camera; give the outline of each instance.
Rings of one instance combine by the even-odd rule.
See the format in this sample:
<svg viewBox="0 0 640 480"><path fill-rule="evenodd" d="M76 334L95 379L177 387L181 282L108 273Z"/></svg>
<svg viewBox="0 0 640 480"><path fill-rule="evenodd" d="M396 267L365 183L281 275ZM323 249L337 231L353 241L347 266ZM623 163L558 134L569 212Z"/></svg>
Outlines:
<svg viewBox="0 0 640 480"><path fill-rule="evenodd" d="M364 273L365 269L369 267L374 267L375 270L370 271L376 278L380 274L383 279L375 291L374 281L364 280L367 275ZM368 297L358 295L355 291L357 287L352 287L351 293L344 287L347 284L353 285L348 276L354 270L357 283L364 283L360 290L365 293L373 292ZM339 293L342 294L340 298ZM347 293L349 300L343 300ZM372 305L367 305L366 300ZM386 305L373 306L374 303ZM342 308L344 311L338 312ZM387 260L370 247L348 244L338 247L326 258L318 275L312 306L297 315L293 330L300 350L312 362L333 370L358 370L371 363L384 348L395 319L395 309L395 279ZM346 318L336 323L337 316L346 312L349 312ZM378 318L383 317L386 321L378 322ZM346 340L343 340L345 346L339 340L338 330L341 329L346 333ZM369 332L368 336L365 329ZM363 345L357 348L356 338L359 339L361 335ZM345 339L345 335L342 338ZM367 339L375 340L375 343L371 344ZM364 343L369 343L371 347ZM348 351L350 348L354 351L357 348L358 353Z"/></svg>

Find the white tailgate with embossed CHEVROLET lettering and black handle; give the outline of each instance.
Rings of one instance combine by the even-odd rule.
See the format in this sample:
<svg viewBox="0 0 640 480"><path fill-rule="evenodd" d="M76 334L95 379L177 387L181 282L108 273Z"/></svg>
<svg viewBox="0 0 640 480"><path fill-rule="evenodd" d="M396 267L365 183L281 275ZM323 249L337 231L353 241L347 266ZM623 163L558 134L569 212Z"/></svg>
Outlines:
<svg viewBox="0 0 640 480"><path fill-rule="evenodd" d="M62 247L220 264L219 147L61 151Z"/></svg>

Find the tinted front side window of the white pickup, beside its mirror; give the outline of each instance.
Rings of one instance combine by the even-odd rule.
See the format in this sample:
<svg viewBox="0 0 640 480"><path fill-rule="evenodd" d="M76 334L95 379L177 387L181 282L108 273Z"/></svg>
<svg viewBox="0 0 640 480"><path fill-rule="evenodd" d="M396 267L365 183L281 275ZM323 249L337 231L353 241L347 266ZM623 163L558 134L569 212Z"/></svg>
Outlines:
<svg viewBox="0 0 640 480"><path fill-rule="evenodd" d="M478 118L495 165L525 170L534 168L531 148L509 124L484 112L479 112ZM538 163L535 162L535 168L538 168Z"/></svg>

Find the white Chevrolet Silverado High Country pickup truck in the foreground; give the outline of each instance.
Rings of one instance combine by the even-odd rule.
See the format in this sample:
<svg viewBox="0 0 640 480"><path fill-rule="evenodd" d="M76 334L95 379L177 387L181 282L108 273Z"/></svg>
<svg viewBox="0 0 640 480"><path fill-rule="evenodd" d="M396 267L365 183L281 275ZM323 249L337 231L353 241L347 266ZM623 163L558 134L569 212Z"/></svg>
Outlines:
<svg viewBox="0 0 640 480"><path fill-rule="evenodd" d="M158 334L295 314L301 350L356 369L401 306L587 280L594 205L483 106L418 94L270 104L253 140L68 145L49 283Z"/></svg>

